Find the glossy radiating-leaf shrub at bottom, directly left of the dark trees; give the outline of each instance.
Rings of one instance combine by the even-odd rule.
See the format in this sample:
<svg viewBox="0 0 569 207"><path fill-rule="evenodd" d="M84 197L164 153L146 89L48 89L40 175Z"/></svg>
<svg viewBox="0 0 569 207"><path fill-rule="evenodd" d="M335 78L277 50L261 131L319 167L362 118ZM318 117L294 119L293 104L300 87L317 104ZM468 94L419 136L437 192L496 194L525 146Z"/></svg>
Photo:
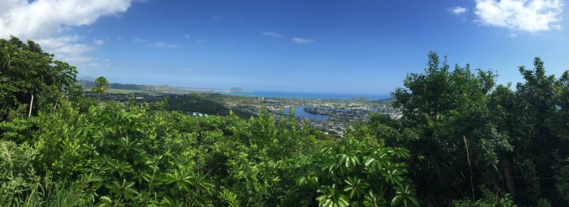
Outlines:
<svg viewBox="0 0 569 207"><path fill-rule="evenodd" d="M317 191L321 206L343 206L347 203L385 206L386 198L394 198L386 194L390 191L388 188L399 192L394 205L398 205L398 201L404 204L418 203L412 190L413 184L405 178L407 165L395 162L396 159L409 157L408 150L400 147L366 147L358 140L349 139L336 147L321 150L321 156L324 161L316 168L320 171L304 174L297 179L297 186L304 188L333 184ZM337 191L336 186L342 191Z"/></svg>

